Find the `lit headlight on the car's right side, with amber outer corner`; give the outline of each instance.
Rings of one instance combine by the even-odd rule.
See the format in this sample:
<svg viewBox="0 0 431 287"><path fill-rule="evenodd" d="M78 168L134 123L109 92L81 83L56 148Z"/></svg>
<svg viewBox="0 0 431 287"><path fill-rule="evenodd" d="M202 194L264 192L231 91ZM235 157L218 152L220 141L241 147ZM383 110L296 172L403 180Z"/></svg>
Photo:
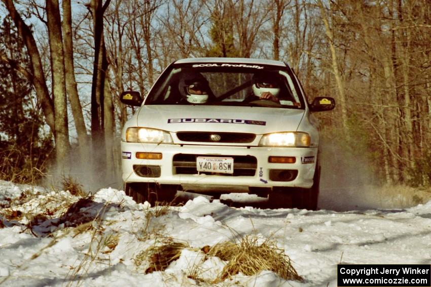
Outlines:
<svg viewBox="0 0 431 287"><path fill-rule="evenodd" d="M309 147L310 135L301 132L273 133L262 137L260 146Z"/></svg>

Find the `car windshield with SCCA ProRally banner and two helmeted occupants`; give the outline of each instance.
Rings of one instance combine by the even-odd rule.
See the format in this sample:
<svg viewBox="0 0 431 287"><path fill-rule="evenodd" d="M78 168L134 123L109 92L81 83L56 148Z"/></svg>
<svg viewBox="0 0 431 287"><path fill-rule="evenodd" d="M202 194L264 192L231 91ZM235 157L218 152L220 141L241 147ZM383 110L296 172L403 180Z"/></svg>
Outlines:
<svg viewBox="0 0 431 287"><path fill-rule="evenodd" d="M304 108L288 69L242 64L173 65L145 100L145 105L190 104Z"/></svg>

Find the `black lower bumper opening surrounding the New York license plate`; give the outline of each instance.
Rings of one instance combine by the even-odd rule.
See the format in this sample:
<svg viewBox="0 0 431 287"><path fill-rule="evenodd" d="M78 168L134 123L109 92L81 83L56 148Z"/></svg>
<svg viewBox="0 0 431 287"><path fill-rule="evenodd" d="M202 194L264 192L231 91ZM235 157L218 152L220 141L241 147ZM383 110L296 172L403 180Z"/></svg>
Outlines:
<svg viewBox="0 0 431 287"><path fill-rule="evenodd" d="M208 154L175 154L173 156L173 172L174 174L194 175L198 171L196 169L196 157L198 156L218 156ZM258 167L258 160L251 155L221 155L220 157L233 158L233 174L218 174L224 176L255 176ZM201 174L211 175L210 172L201 172Z"/></svg>

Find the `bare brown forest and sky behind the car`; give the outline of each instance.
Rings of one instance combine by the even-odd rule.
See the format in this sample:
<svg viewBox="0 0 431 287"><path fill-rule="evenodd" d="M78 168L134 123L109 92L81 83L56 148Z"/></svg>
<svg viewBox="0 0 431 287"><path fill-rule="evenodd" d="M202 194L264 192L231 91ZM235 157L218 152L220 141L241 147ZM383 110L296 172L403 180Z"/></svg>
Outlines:
<svg viewBox="0 0 431 287"><path fill-rule="evenodd" d="M118 185L119 94L179 58L245 57L336 99L316 114L334 176L431 184L428 0L2 0L0 21L0 179Z"/></svg>

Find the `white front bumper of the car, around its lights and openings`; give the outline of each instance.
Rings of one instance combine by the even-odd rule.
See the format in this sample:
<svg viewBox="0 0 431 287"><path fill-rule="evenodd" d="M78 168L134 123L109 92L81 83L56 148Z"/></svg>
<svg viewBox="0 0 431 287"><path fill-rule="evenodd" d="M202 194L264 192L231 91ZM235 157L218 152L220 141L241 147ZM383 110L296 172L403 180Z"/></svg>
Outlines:
<svg viewBox="0 0 431 287"><path fill-rule="evenodd" d="M158 184L198 185L211 189L211 186L238 187L302 187L313 185L313 175L317 161L317 147L241 147L241 146L210 146L210 145L179 145L179 144L142 144L121 143L122 170L124 182L154 182ZM162 159L138 159L136 152L162 153ZM250 176L207 175L207 174L177 174L173 166L176 154L183 155L220 155L220 156L252 156L257 159L256 172ZM269 156L291 156L295 163L270 163ZM307 160L303 160L303 158ZM139 176L133 167L151 166L157 168L154 177ZM235 161L234 161L235 168ZM272 172L271 172L272 170ZM297 171L295 179L290 181L274 179L274 170ZM275 172L277 174L277 172Z"/></svg>

